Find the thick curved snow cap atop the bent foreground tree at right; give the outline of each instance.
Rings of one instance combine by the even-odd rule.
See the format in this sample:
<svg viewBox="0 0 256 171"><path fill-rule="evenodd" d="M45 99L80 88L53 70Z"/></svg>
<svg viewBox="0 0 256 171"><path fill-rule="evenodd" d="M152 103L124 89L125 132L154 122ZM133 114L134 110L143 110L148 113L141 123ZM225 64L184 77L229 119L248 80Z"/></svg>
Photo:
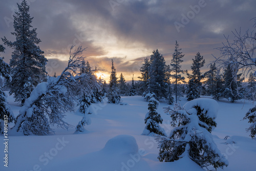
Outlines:
<svg viewBox="0 0 256 171"><path fill-rule="evenodd" d="M198 98L191 101L188 101L186 104L184 104L183 108L188 111L194 106L200 106L200 108L207 112L207 116L210 118L216 118L219 104L216 100L210 99L210 98Z"/></svg>

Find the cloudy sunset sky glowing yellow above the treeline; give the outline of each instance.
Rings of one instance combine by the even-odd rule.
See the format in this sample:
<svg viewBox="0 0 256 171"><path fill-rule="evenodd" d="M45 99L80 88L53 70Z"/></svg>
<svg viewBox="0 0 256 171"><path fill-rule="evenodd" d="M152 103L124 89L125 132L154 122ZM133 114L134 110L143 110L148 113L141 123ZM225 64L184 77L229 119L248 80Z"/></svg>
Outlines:
<svg viewBox="0 0 256 171"><path fill-rule="evenodd" d="M39 47L48 59L47 72L60 74L67 66L71 45L87 48L83 56L102 69L109 80L111 59L117 76L138 80L145 57L158 49L169 65L177 40L185 55L183 70L190 70L197 52L204 56L202 72L220 56L215 48L233 39L234 29L252 29L255 0L28 0L32 26L41 39ZM18 0L1 0L0 37L11 35ZM0 44L3 45L2 40ZM9 63L12 49L6 47Z"/></svg>

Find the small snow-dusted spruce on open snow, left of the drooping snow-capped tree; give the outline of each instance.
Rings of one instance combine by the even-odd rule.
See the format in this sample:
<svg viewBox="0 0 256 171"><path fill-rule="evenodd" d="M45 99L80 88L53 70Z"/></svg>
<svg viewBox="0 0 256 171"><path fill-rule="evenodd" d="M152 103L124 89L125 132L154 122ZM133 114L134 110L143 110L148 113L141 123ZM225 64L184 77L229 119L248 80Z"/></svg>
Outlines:
<svg viewBox="0 0 256 171"><path fill-rule="evenodd" d="M161 115L156 111L159 102L154 97L152 97L148 102L149 103L147 109L149 112L145 116L146 126L142 135L149 135L151 133L155 133L161 136L166 136L165 131L159 125L159 123L163 122L163 119L161 118Z"/></svg>

